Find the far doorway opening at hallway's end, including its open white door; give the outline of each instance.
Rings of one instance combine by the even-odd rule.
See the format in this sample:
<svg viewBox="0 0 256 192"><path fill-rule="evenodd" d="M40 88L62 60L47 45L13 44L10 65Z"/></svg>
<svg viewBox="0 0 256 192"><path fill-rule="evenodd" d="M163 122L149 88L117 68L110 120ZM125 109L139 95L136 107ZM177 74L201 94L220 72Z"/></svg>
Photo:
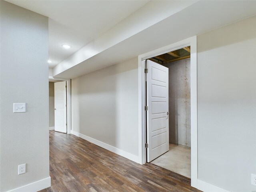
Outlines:
<svg viewBox="0 0 256 192"><path fill-rule="evenodd" d="M49 82L49 130L68 133L67 81Z"/></svg>

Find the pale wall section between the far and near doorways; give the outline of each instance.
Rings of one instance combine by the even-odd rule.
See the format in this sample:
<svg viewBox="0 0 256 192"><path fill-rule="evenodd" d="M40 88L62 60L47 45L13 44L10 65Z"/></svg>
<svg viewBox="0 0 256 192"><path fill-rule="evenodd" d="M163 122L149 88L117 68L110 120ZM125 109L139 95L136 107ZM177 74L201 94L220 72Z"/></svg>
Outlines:
<svg viewBox="0 0 256 192"><path fill-rule="evenodd" d="M72 79L72 131L138 156L138 60Z"/></svg>

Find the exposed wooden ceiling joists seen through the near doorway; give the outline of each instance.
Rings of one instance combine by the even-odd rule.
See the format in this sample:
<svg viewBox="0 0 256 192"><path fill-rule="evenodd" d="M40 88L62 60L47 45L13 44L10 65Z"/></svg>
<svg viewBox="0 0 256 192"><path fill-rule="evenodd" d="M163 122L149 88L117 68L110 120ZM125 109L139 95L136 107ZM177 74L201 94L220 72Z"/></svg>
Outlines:
<svg viewBox="0 0 256 192"><path fill-rule="evenodd" d="M149 60L152 60L159 64L166 64L187 58L190 58L190 46L155 56L153 58L150 58Z"/></svg>

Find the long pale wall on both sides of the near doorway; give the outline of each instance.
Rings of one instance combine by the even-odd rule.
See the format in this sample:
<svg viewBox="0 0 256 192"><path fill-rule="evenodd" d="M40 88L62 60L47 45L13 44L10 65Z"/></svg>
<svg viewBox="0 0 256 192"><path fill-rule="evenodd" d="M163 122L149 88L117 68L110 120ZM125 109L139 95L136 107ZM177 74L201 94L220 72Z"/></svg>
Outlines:
<svg viewBox="0 0 256 192"><path fill-rule="evenodd" d="M198 179L256 190L256 16L198 36ZM136 58L72 79L72 130L138 155Z"/></svg>

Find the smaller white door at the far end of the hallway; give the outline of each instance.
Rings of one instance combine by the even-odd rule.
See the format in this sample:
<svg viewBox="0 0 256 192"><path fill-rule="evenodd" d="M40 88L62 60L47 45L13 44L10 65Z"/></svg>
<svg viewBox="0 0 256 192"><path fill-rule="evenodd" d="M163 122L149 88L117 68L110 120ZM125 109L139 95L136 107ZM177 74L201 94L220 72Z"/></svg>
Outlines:
<svg viewBox="0 0 256 192"><path fill-rule="evenodd" d="M54 83L54 130L67 132L66 81Z"/></svg>

